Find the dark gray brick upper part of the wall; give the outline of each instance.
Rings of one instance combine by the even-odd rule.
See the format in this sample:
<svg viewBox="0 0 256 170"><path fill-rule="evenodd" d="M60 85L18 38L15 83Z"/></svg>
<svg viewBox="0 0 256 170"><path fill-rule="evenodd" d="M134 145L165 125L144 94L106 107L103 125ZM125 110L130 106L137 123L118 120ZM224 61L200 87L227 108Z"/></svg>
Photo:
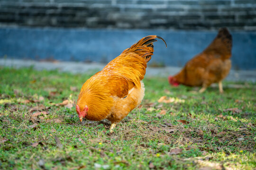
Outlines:
<svg viewBox="0 0 256 170"><path fill-rule="evenodd" d="M256 0L0 0L0 25L256 30Z"/></svg>

